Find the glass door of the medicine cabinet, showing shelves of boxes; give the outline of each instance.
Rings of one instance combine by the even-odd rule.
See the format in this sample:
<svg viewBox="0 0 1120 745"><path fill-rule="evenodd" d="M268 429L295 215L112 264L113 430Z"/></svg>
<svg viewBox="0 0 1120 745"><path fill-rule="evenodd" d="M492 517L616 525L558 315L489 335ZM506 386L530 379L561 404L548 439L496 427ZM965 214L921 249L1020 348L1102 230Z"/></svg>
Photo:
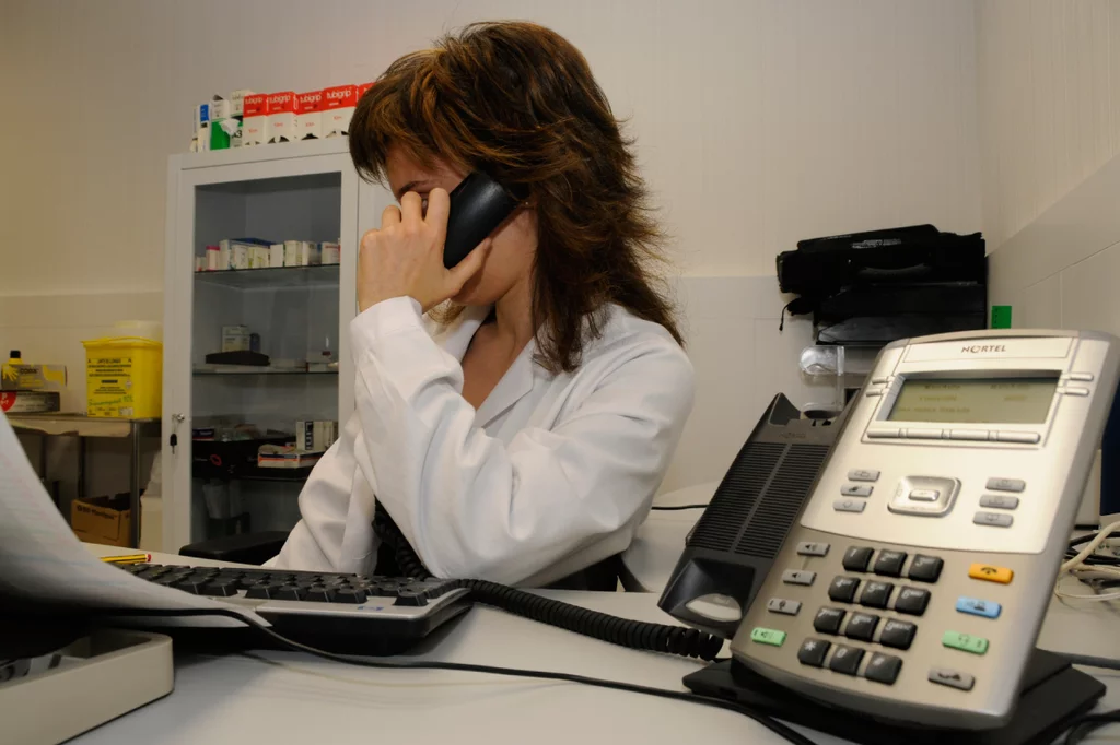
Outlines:
<svg viewBox="0 0 1120 745"><path fill-rule="evenodd" d="M343 173L194 187L190 537L289 530L339 421Z"/></svg>

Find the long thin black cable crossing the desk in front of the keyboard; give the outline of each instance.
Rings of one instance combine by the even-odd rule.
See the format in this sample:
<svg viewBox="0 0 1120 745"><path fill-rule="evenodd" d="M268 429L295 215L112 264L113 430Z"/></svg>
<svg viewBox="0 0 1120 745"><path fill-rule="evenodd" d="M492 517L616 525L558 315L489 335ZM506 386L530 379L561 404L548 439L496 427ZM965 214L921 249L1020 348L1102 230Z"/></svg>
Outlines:
<svg viewBox="0 0 1120 745"><path fill-rule="evenodd" d="M304 644L301 642L288 639L283 634L277 633L269 626L250 619L241 613L237 613L233 609L225 607L214 607L214 609L184 609L184 610L138 610L138 609L96 609L97 615L110 616L110 617L122 617L122 616L152 616L152 617L186 617L186 616L224 616L227 619L234 619L240 621L246 626L255 630L256 632L264 634L272 641L280 643L281 645L297 652L306 652L308 654L314 654L315 657L321 658L324 660L330 660L332 662L342 662L343 664L354 664L363 668L376 668L384 670L457 670L459 672L480 672L494 676L506 676L511 678L536 678L541 680L559 680L561 682L573 682L584 686L594 686L596 688L607 688L612 690L623 690L632 694L643 694L645 696L656 696L660 698L669 698L678 701L688 701L691 704L702 704L704 706L711 706L718 709L726 709L728 711L735 711L736 714L741 714L750 719L754 719L762 726L766 727L775 735L786 739L790 743L795 743L796 745L818 745L810 738L805 737L792 727L782 724L777 719L772 718L769 715L762 714L746 706L740 706L732 701L727 701L721 698L713 698L710 696L701 696L699 694L691 694L678 690L668 690L665 688L651 688L648 686L638 686L635 683L623 682L620 680L606 680L604 678L589 678L587 676L578 676L570 672L552 672L548 670L523 670L520 668L501 668L489 664L470 664L466 662L437 662L437 661L417 661L417 662L388 662L384 660L368 659L368 658L355 658L348 657L346 654L337 654L335 652L328 652L326 650L317 649L310 647L309 644Z"/></svg>

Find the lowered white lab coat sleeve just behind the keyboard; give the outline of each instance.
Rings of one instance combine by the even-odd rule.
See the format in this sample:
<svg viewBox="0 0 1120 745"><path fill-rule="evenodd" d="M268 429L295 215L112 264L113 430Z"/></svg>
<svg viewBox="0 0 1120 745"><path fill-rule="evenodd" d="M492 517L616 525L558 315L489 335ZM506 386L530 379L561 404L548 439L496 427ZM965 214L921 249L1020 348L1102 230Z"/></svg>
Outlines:
<svg viewBox="0 0 1120 745"><path fill-rule="evenodd" d="M361 483L355 454L360 440L361 423L355 414L315 464L299 492L300 520L280 554L265 566L372 574L377 549L372 527L374 499L368 485Z"/></svg>

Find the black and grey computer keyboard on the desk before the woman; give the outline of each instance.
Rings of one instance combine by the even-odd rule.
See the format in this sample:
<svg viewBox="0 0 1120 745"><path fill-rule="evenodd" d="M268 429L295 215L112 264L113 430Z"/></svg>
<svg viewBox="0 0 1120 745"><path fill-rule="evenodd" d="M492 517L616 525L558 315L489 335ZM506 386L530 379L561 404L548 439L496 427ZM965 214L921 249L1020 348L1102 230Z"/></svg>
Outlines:
<svg viewBox="0 0 1120 745"><path fill-rule="evenodd" d="M403 651L469 606L457 579L132 564L141 579L252 607L280 634L319 649Z"/></svg>

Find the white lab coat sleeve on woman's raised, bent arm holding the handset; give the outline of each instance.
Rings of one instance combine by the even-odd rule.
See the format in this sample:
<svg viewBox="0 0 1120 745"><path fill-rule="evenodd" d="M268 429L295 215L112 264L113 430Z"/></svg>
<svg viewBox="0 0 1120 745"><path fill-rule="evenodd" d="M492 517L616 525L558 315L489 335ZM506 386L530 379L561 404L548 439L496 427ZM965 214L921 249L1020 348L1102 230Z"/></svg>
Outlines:
<svg viewBox="0 0 1120 745"><path fill-rule="evenodd" d="M596 544L599 556L629 544L692 407L676 345L616 350L578 408L505 444L475 426L461 367L414 301L379 303L351 331L377 499L432 574L516 584Z"/></svg>

